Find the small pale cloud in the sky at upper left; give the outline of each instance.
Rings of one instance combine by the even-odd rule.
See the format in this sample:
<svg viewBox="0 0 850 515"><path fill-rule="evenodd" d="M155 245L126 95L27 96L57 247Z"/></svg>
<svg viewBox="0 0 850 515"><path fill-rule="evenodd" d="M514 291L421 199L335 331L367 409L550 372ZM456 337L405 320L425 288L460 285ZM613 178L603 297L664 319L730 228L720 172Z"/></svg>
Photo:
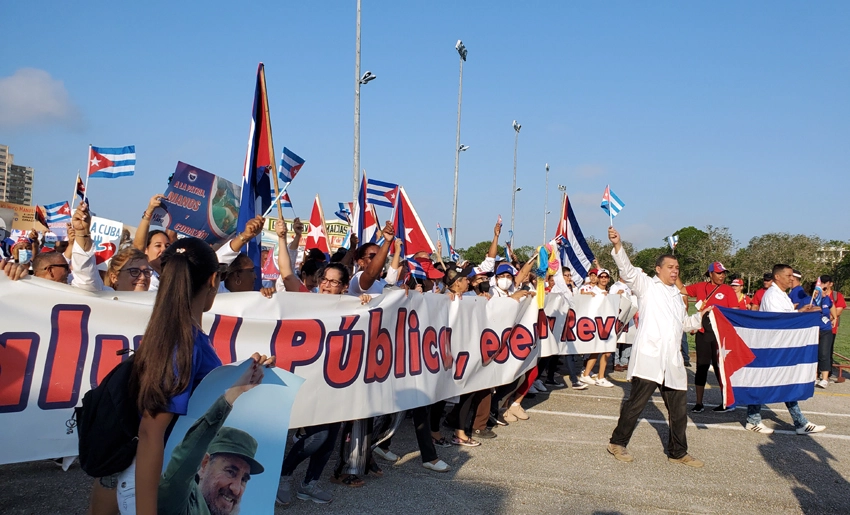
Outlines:
<svg viewBox="0 0 850 515"><path fill-rule="evenodd" d="M21 68L0 78L0 128L79 127L82 115L65 85L44 70Z"/></svg>

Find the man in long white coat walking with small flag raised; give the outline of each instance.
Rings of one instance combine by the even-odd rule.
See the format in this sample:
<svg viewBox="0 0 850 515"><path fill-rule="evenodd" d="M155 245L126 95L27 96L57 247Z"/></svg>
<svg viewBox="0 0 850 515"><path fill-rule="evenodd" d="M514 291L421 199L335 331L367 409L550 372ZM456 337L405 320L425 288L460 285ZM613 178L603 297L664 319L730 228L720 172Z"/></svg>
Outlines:
<svg viewBox="0 0 850 515"><path fill-rule="evenodd" d="M702 461L688 454L685 436L688 425L688 376L679 346L682 331L699 329L700 319L711 307L688 316L676 288L679 262L674 256L665 254L659 257L655 262L655 277L650 278L632 266L623 250L620 234L613 227L608 228L608 239L614 244L611 255L620 269L620 280L637 296L641 309L640 324L626 376L632 383L632 389L620 408L620 419L611 435L608 452L620 461L634 460L626 446L641 411L655 389L659 388L670 414L668 460L690 467L702 467Z"/></svg>

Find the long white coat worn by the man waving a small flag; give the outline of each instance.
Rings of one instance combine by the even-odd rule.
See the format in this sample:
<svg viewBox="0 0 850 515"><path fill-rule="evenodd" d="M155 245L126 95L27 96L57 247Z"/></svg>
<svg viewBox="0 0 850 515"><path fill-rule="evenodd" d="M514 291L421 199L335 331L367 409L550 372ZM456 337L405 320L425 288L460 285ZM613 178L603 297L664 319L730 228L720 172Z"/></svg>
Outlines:
<svg viewBox="0 0 850 515"><path fill-rule="evenodd" d="M620 280L632 289L641 309L626 378L640 377L686 391L688 374L680 350L682 332L699 329L701 315L688 316L678 288L633 267L625 250L615 253L612 249L611 255L620 270Z"/></svg>

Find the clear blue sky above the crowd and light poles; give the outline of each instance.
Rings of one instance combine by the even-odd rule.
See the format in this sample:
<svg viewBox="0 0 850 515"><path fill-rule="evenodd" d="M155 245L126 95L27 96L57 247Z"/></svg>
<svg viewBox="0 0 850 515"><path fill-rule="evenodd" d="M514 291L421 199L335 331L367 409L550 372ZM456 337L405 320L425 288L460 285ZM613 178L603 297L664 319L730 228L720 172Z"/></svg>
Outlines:
<svg viewBox="0 0 850 515"><path fill-rule="evenodd" d="M203 5L203 7L201 7ZM68 199L87 145L136 145L136 176L92 180L94 210L136 225L178 160L241 176L257 63L275 150L306 164L307 218L352 189L355 0L7 2L0 143L36 169L35 202ZM361 166L405 186L429 231L451 225L457 39L464 66L458 246L557 223L565 184L586 234L615 220L639 248L683 226L741 244L777 231L847 240L850 3L363 0ZM29 69L29 70L27 70ZM36 71L37 70L37 71ZM388 209L379 215L389 217Z"/></svg>

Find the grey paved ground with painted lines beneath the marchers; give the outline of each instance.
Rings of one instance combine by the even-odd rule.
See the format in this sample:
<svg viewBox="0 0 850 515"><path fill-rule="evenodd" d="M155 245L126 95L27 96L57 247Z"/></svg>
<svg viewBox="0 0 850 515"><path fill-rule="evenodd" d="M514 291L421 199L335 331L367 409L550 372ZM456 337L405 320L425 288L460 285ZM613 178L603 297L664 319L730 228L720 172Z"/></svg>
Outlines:
<svg viewBox="0 0 850 515"><path fill-rule="evenodd" d="M827 425L816 436L794 434L781 404L762 413L777 429L769 436L743 429L745 409L692 414L690 452L706 466L690 469L667 462L658 395L629 446L635 461L607 454L628 393L622 373L611 379L614 388L561 389L526 401L531 419L498 429L480 447L438 449L453 467L445 474L421 467L406 421L392 448L401 461L383 462L384 477L367 477L358 489L323 478L331 504L294 500L275 513L850 513L850 382L801 403L810 420ZM706 392L708 405L718 399L716 388ZM0 484L4 514L71 514L85 512L90 480L77 466L62 472L38 462L0 466Z"/></svg>

